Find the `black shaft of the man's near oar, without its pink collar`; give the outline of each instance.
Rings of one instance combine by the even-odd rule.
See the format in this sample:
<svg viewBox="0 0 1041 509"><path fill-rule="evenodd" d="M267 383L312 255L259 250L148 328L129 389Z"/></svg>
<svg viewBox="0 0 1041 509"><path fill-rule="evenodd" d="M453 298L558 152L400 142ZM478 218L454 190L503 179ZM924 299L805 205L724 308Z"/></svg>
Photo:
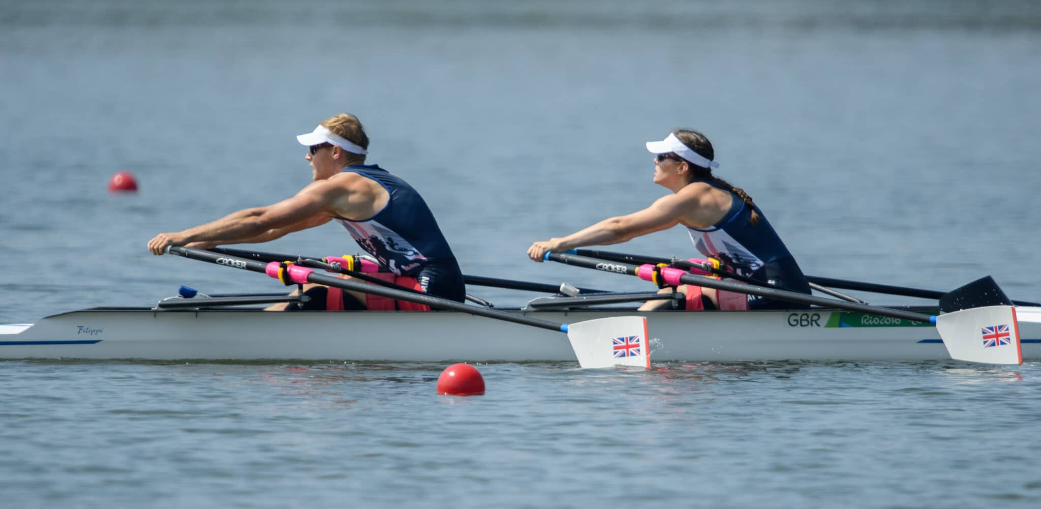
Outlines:
<svg viewBox="0 0 1041 509"><path fill-rule="evenodd" d="M172 246L170 248L170 253L180 255L185 258L192 258L194 260L208 261L210 263L218 263L221 265L231 266L235 269L243 269L246 271L258 272L261 274L268 273L266 262L239 258L237 256L232 256L230 254L212 253L209 251L203 251L192 248L182 248L176 246ZM514 324L539 327L542 329L554 330L557 332L567 331L566 325L557 324L554 322L550 322L548 320L539 320L530 316L523 316L518 314L508 313L506 311L499 311L496 309L489 309L484 307L467 306L459 302L450 301L448 299L441 299L439 297L429 296L426 294L410 294L407 291L401 291L393 288L387 288L384 286L376 286L373 284L359 283L357 281L351 281L350 279L338 278L335 276L327 276L325 274L316 272L309 273L307 275L307 281L310 283L324 284L326 286L335 286L337 288L346 290L360 291L363 294L372 294L375 296L386 297L388 299L396 299L399 301L408 301L408 302L414 302L416 304L426 304L430 307L435 307L438 309L462 311L469 314L476 314L478 316L485 316L489 319L502 320L505 322L512 322Z"/></svg>

